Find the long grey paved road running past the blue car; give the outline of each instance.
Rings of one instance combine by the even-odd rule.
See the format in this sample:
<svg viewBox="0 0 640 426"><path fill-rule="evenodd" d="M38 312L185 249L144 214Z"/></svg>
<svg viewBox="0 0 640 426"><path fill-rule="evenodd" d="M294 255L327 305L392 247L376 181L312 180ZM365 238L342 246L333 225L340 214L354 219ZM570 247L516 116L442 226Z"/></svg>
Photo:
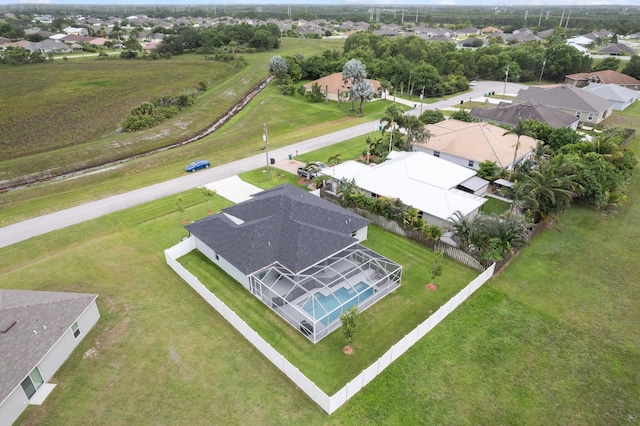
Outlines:
<svg viewBox="0 0 640 426"><path fill-rule="evenodd" d="M423 111L435 108L444 109L450 107L451 105L459 104L461 100L468 101L470 98L473 98L475 100L476 98L482 97L483 93L489 91L495 91L496 94L502 94L503 91L507 94L514 94L517 93L518 90L522 87L524 86L514 83L507 83L505 88L505 84L501 82L479 82L478 85L474 87L473 93L465 93L463 95L458 95L445 101L439 101L433 104L423 104ZM407 103L411 106L413 105L413 102L410 101L402 102ZM419 110L420 106L418 104L418 107L414 108L409 113L418 114ZM378 121L371 121L368 123L350 127L348 129L340 130L334 133L329 133L327 135L289 145L284 148L270 150L269 156L275 159L282 159L287 158L289 154L304 154L319 148L323 148L327 145L332 145L347 139L377 131L379 124L380 123ZM102 200L93 201L59 212L8 225L0 228L0 248L15 244L20 241L24 241L38 235L45 234L47 232L65 228L67 226L75 225L87 220L95 219L109 213L124 210L129 207L137 206L139 204L157 200L169 195L178 194L180 192L187 191L189 189L196 188L198 186L202 186L216 180L227 178L244 171L254 170L262 167L265 164L265 154L254 155L252 157L244 158L232 163L222 164L217 167L198 171L196 173L188 174L166 182L161 182L145 188L126 192L124 194L114 195Z"/></svg>

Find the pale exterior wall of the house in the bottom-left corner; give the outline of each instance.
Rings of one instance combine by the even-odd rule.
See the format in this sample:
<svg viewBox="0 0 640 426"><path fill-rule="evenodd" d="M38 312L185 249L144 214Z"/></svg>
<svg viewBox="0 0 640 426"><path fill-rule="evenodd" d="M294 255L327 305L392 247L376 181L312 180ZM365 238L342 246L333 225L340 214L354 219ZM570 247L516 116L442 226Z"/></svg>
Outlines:
<svg viewBox="0 0 640 426"><path fill-rule="evenodd" d="M38 363L38 368L45 382L48 382L55 372L60 368L64 361L69 357L71 352L80 344L84 336L98 322L100 313L95 300L85 309L85 311L76 320L80 335L77 339L73 337L71 326L65 331L56 344L47 352L47 354ZM34 367L35 368L35 367ZM33 370L33 369L32 369ZM0 405L0 425L11 425L15 422L20 414L29 405L29 398L24 393L22 386L18 383L15 389Z"/></svg>

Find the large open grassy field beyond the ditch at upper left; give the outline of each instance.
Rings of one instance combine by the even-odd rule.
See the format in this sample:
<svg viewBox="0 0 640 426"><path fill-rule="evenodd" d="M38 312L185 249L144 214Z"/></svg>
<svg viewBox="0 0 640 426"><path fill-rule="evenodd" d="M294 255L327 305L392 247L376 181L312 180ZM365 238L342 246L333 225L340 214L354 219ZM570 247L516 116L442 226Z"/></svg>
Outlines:
<svg viewBox="0 0 640 426"><path fill-rule="evenodd" d="M268 75L274 55L341 49L343 40L284 39L276 51L241 55L247 65L180 55L170 60L95 57L0 67L0 180L57 175L185 140L207 128ZM117 129L131 108L204 82L195 105L142 132Z"/></svg>

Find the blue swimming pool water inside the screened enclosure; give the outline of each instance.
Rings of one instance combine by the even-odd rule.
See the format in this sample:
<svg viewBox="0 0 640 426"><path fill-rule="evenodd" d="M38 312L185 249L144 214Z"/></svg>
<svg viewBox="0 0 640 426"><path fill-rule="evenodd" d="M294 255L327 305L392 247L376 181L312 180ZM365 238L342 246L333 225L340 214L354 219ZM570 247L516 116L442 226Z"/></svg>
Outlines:
<svg viewBox="0 0 640 426"><path fill-rule="evenodd" d="M316 293L300 302L298 306L304 309L311 318L321 320L323 324L327 325L337 319L342 310L347 310L371 296L373 296L373 287L359 282L353 290L339 288L329 296ZM342 309L340 309L341 307Z"/></svg>

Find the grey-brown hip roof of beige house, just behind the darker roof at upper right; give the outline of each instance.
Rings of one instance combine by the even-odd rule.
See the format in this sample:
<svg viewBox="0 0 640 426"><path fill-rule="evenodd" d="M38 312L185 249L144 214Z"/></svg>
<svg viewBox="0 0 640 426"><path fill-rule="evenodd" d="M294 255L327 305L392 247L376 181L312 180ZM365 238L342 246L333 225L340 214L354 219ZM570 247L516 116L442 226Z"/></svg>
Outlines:
<svg viewBox="0 0 640 426"><path fill-rule="evenodd" d="M550 89L540 87L522 89L513 101L518 103L542 104L553 108L575 111L595 112L597 114L613 106L613 102L589 93L586 90L566 84Z"/></svg>

